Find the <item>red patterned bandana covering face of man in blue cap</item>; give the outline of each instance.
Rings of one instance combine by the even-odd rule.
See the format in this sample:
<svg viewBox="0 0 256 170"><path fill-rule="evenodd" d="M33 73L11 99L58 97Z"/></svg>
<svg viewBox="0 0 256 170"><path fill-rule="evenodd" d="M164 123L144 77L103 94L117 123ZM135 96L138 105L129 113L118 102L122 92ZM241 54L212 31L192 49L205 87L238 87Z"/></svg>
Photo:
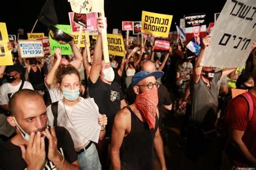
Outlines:
<svg viewBox="0 0 256 170"><path fill-rule="evenodd" d="M158 104L158 90L150 89L137 95L135 104L142 113L142 118L147 121L150 129L156 125L156 108Z"/></svg>

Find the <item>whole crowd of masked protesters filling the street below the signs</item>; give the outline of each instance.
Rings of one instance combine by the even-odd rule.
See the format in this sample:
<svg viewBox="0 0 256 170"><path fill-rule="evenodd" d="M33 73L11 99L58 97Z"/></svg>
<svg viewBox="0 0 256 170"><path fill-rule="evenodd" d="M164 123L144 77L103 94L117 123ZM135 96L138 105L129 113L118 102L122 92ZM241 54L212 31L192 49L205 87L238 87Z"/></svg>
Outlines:
<svg viewBox="0 0 256 170"><path fill-rule="evenodd" d="M255 43L242 68L200 66L210 35L190 60L184 42L155 52L146 40L143 46L129 42L124 57L110 55L106 63L101 18L97 26L92 62L73 42L71 55L57 48L30 59L8 45L14 65L0 66L0 169L154 169L154 155L166 169L164 123L178 116L184 117L177 140L185 149L181 169L256 167L256 115L247 114L251 103L256 111ZM229 103L232 88L247 90L252 102L238 96ZM71 119L72 109L88 97L100 113L97 144Z"/></svg>

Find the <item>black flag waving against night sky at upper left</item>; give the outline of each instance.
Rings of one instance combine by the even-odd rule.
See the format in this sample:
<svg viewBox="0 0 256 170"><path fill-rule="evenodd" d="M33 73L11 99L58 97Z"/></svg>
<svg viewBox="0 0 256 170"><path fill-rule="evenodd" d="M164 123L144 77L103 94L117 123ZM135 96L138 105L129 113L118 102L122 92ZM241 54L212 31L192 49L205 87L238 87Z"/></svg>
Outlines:
<svg viewBox="0 0 256 170"><path fill-rule="evenodd" d="M38 17L39 22L46 26L58 24L58 17L55 11L53 0L46 0Z"/></svg>

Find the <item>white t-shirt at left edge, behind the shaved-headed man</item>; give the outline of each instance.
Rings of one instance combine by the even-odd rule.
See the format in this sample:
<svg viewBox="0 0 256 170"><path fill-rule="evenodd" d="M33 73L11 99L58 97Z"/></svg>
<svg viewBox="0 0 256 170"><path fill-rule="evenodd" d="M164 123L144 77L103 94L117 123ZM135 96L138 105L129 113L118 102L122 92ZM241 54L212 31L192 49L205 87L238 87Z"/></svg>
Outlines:
<svg viewBox="0 0 256 170"><path fill-rule="evenodd" d="M21 82L17 86L12 86L10 83L4 83L1 86L0 89L0 105L8 104L11 96L19 90L19 87L21 86ZM28 81L24 82L22 89L31 89L34 90L31 83Z"/></svg>

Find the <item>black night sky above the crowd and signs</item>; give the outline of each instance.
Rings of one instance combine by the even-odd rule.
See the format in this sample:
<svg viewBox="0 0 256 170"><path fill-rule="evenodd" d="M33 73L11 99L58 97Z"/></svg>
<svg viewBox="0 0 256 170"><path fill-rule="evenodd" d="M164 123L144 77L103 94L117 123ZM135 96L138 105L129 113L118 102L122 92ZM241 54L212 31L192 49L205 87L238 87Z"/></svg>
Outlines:
<svg viewBox="0 0 256 170"><path fill-rule="evenodd" d="M68 0L53 0L58 16L58 24L69 24L68 12L71 7ZM179 25L180 18L191 13L206 13L206 26L214 22L214 13L223 9L226 1L139 1L139 0L105 0L104 9L107 17L107 32L112 33L112 29L122 30L122 21L140 21L142 11L173 15L171 30L176 31L175 22ZM31 32L33 25L44 5L45 0L19 0L4 1L1 3L0 22L6 23L8 34L17 34L18 28L24 29L24 36ZM33 32L44 32L48 34L48 28L38 22ZM125 31L122 31L125 34Z"/></svg>

